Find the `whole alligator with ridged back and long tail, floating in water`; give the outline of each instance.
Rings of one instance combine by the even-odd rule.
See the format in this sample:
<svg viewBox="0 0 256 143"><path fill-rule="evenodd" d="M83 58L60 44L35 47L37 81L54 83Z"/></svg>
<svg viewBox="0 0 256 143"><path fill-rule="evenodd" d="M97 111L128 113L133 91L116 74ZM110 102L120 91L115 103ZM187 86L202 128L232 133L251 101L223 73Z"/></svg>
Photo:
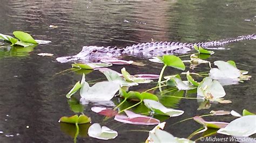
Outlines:
<svg viewBox="0 0 256 143"><path fill-rule="evenodd" d="M198 47L217 47L228 44L230 42L237 42L241 40L256 39L255 34L242 35L233 39L208 41L198 43L183 43L183 42L146 42L141 44L134 44L132 46L126 46L125 48L118 47L97 47L97 46L84 46L82 51L73 56L62 56L56 60L60 63L65 62L107 62L108 60L119 60L121 56L138 56L141 58L152 58L153 56L162 56L166 54L185 54L192 49L194 45ZM122 60L121 60L122 61Z"/></svg>

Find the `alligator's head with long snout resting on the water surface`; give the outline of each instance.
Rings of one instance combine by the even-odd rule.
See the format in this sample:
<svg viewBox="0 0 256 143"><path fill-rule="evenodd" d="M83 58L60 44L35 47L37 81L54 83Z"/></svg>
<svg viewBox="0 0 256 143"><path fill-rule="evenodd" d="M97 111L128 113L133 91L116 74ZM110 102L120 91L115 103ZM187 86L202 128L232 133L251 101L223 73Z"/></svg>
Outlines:
<svg viewBox="0 0 256 143"><path fill-rule="evenodd" d="M119 50L114 47L84 46L82 51L73 56L62 56L56 60L60 63L79 61L84 63L100 62L103 59L113 59L119 56Z"/></svg>

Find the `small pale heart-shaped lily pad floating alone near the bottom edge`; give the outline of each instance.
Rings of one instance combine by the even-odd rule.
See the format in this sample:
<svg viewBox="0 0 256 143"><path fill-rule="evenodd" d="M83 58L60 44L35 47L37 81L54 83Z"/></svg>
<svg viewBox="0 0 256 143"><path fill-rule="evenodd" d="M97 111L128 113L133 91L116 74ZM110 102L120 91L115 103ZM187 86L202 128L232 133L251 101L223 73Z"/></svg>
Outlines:
<svg viewBox="0 0 256 143"><path fill-rule="evenodd" d="M88 135L96 139L109 140L116 138L118 133L106 126L100 127L98 123L95 123L89 127Z"/></svg>

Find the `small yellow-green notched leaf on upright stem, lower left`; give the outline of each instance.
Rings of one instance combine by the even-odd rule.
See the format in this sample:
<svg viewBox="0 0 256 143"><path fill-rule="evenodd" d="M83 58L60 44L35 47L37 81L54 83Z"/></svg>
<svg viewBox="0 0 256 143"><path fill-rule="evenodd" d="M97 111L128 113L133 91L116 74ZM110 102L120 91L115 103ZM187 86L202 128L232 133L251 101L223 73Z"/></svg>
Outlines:
<svg viewBox="0 0 256 143"><path fill-rule="evenodd" d="M85 124L85 123L90 123L91 118L87 117L85 115L74 115L71 117L62 117L59 119L59 122L63 123L69 123L69 124Z"/></svg>

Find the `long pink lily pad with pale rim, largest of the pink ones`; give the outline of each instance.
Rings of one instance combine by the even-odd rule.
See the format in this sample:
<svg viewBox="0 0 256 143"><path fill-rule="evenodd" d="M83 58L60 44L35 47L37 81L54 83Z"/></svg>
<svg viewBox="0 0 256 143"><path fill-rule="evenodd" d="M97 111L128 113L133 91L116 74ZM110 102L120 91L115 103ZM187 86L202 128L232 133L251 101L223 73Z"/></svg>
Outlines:
<svg viewBox="0 0 256 143"><path fill-rule="evenodd" d="M157 125L160 123L158 119L155 119L152 117L139 115L128 110L124 112L126 113L127 116L118 114L114 117L114 120L120 121L122 123L136 124L136 125Z"/></svg>

